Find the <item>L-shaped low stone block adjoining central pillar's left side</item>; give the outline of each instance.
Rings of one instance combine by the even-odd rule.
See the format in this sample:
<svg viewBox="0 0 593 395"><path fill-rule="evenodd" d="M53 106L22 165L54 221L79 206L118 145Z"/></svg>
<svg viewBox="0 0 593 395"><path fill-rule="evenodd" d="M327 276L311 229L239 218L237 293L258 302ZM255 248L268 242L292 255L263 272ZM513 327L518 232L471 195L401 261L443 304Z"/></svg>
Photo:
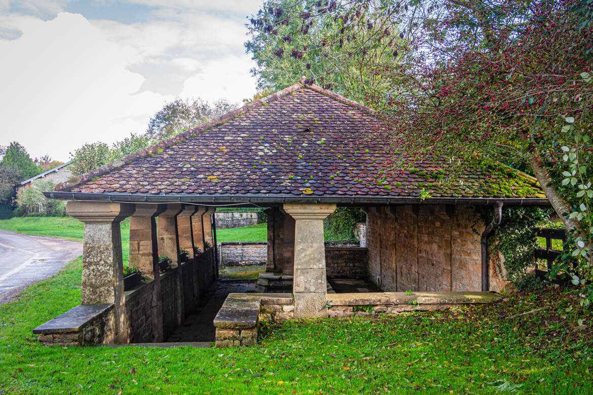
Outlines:
<svg viewBox="0 0 593 395"><path fill-rule="evenodd" d="M294 318L291 294L228 294L216 314L216 347L253 346L262 319Z"/></svg>

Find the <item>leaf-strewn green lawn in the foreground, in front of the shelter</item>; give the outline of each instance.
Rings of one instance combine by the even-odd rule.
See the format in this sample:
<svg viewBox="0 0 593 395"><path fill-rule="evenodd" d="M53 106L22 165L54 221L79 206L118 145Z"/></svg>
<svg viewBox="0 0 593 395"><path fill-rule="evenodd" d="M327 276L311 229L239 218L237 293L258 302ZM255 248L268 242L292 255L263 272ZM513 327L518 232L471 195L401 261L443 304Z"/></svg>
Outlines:
<svg viewBox="0 0 593 395"><path fill-rule="evenodd" d="M566 305L555 294L381 319L264 324L264 337L250 348L40 345L31 329L78 304L80 277L78 259L28 287L20 300L0 306L0 390L492 394L506 386L534 394L593 391L590 329L573 331L575 310L566 317ZM509 317L538 308L543 310Z"/></svg>

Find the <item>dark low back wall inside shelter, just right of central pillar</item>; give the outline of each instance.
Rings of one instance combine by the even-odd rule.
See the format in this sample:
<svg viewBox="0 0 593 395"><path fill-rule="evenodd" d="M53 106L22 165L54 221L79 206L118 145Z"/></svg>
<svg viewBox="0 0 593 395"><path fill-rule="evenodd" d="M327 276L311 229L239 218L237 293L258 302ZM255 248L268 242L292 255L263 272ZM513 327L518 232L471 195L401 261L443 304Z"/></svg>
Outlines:
<svg viewBox="0 0 593 395"><path fill-rule="evenodd" d="M328 278L367 278L368 251L361 247L326 246Z"/></svg>

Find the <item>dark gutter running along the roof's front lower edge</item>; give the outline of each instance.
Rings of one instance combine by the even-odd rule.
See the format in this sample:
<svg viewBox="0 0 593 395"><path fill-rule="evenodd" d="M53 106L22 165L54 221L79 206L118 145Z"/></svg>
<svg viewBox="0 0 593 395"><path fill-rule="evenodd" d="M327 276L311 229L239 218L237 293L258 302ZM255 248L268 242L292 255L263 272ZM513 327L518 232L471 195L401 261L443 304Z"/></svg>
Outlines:
<svg viewBox="0 0 593 395"><path fill-rule="evenodd" d="M505 205L550 205L547 198L503 197L387 197L387 196L295 196L295 195L145 195L145 194L90 194L84 192L43 192L47 198L77 201L117 201L121 203L187 203L187 204L266 204L266 203L336 203L349 205L393 204L471 204L488 205L502 201Z"/></svg>

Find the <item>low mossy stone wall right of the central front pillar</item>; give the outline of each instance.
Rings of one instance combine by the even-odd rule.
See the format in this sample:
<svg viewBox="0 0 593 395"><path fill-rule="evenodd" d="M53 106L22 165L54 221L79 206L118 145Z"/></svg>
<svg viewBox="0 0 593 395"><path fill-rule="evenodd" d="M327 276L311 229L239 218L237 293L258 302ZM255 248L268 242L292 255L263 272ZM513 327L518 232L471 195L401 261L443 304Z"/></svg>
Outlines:
<svg viewBox="0 0 593 395"><path fill-rule="evenodd" d="M490 292L372 292L328 294L330 317L397 314L412 310L444 310L459 304L492 303L500 299Z"/></svg>

